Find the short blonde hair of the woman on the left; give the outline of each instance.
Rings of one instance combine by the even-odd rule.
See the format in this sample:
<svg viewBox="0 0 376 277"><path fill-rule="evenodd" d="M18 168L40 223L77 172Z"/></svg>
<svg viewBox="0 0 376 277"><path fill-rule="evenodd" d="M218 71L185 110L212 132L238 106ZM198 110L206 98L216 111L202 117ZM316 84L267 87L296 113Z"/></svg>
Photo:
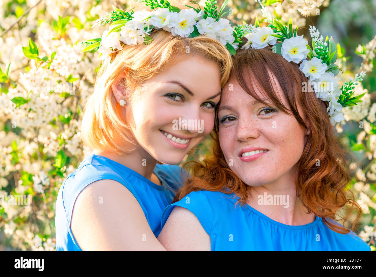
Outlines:
<svg viewBox="0 0 376 277"><path fill-rule="evenodd" d="M219 65L221 88L229 79L232 59L229 51L218 40L205 35L194 38L173 37L165 30L153 32L151 37L153 41L149 45L129 46L121 42L123 49L111 54L111 63L105 60L101 64L94 93L88 97L84 108L81 126L84 145L120 155L136 149L131 128L123 121L121 106L111 88L115 79L126 69L128 74L124 86L127 91L134 91L144 81L164 70L173 54L186 55L186 49L189 49L189 55L196 54Z"/></svg>

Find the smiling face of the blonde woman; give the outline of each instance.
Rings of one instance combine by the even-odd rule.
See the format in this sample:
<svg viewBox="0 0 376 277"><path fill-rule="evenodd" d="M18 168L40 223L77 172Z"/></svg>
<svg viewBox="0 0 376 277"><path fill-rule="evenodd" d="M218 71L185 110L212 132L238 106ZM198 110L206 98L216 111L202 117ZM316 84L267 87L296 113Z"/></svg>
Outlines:
<svg viewBox="0 0 376 277"><path fill-rule="evenodd" d="M180 163L214 127L220 78L215 62L185 55L137 88L126 121L139 145L162 163Z"/></svg>

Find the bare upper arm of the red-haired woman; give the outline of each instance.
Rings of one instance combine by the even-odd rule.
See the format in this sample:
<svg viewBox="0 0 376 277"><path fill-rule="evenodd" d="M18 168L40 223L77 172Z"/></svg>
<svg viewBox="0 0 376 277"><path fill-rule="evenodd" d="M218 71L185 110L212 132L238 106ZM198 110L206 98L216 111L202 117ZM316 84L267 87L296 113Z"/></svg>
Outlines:
<svg viewBox="0 0 376 277"><path fill-rule="evenodd" d="M159 242L168 251L210 251L210 236L189 210L176 206L168 217Z"/></svg>

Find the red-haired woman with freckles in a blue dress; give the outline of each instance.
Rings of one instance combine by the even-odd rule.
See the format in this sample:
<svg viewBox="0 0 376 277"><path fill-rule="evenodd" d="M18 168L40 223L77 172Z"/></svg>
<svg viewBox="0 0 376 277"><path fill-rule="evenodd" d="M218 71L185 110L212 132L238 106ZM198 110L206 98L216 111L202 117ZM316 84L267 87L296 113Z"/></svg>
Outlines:
<svg viewBox="0 0 376 277"><path fill-rule="evenodd" d="M370 250L351 231L361 211L327 103L270 46L240 50L233 64L213 155L194 162L158 240L167 250ZM354 212L349 230L339 222Z"/></svg>

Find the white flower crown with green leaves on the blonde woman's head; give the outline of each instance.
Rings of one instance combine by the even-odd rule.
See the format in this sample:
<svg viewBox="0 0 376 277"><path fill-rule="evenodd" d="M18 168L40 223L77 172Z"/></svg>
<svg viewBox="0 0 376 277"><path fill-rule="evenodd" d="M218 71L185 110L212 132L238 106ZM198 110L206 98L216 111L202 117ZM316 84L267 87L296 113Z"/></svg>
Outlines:
<svg viewBox="0 0 376 277"><path fill-rule="evenodd" d="M81 42L85 48L81 52L98 51L99 59L108 59L112 53L123 48L125 44L135 46L137 44L150 44L151 33L156 30L166 30L173 36L186 38L197 37L200 34L219 40L232 55L238 48L241 38L250 32L250 26L246 23L233 28L230 21L221 18L227 12L224 7L229 0L224 1L219 12L215 0L207 0L202 10L185 5L190 9L179 9L166 0L137 0L145 3L152 11L122 11L114 8L114 11L101 16L96 24L110 24L110 29L103 32L102 37ZM78 43L77 43L78 44ZM111 62L111 61L110 61Z"/></svg>

